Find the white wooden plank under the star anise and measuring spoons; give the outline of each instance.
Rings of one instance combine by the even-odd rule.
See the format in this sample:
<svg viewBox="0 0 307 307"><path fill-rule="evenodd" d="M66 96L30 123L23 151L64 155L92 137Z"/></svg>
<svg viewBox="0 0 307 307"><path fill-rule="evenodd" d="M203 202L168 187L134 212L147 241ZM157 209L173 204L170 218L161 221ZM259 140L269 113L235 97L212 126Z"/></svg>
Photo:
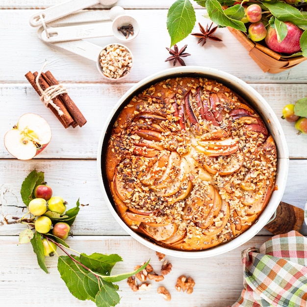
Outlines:
<svg viewBox="0 0 307 307"><path fill-rule="evenodd" d="M29 26L28 20L33 10L0 10L0 20L6 20L1 26L5 48L0 49L2 61L0 82L25 82L24 75L29 70L40 70L47 60L48 69L54 76L66 82L104 82L96 64L69 51L62 51L45 45L36 35L36 28ZM203 15L205 10L197 11L197 23L193 32L199 32L198 22L203 26L209 23ZM144 77L161 70L171 68L172 63L165 62L170 45L166 28L166 9L127 10L140 26L137 38L126 45L132 51L135 63L133 71L125 82L137 82ZM8 30L7 30L8 29ZM240 77L249 83L305 83L307 61L280 74L264 74L250 58L248 52L230 34L227 28L219 28L216 36L222 42L208 40L202 47L197 38L189 35L179 43L187 44L186 65L210 66ZM113 37L89 39L88 41L105 46L114 43ZM9 46L10 52L7 52ZM251 74L252 72L252 74Z"/></svg>

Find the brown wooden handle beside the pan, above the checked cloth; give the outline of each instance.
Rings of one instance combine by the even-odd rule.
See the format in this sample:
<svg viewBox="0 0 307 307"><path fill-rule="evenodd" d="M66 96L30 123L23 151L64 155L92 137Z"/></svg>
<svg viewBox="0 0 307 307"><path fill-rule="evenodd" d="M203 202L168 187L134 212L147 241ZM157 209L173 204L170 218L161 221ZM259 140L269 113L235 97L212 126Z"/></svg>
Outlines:
<svg viewBox="0 0 307 307"><path fill-rule="evenodd" d="M304 223L304 210L281 202L276 210L276 218L264 228L273 234L286 233L291 230L300 231Z"/></svg>

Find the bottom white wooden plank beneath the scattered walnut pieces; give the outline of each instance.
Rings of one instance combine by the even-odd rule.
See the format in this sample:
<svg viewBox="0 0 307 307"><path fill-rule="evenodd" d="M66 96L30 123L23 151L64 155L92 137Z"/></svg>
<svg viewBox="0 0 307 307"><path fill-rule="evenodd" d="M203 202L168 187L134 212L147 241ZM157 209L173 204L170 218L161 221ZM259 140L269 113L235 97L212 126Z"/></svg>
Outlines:
<svg viewBox="0 0 307 307"><path fill-rule="evenodd" d="M126 281L118 282L119 295L122 297L117 306L188 306L222 307L233 304L243 289L243 269L241 251L249 247L259 247L268 236L256 236L248 244L226 255L204 259L182 259L166 256L172 263L172 271L164 281L150 281L153 286L148 291L133 292ZM145 248L131 237L88 236L73 237L67 240L70 247L79 253L90 255L94 252L118 254L123 262L116 264L112 273L133 270L135 265L151 259L154 271L159 274L161 262L155 252ZM1 301L10 306L95 306L90 301L78 301L73 297L57 271L57 257L47 259L49 274L37 265L36 256L30 244L17 245L18 237L0 236L0 287ZM5 251L5 253L4 253ZM19 261L12 261L11 255L18 255ZM175 284L180 275L192 277L195 281L192 294L177 292ZM165 286L172 300L165 302L156 293L158 286ZM3 305L5 306L5 305Z"/></svg>

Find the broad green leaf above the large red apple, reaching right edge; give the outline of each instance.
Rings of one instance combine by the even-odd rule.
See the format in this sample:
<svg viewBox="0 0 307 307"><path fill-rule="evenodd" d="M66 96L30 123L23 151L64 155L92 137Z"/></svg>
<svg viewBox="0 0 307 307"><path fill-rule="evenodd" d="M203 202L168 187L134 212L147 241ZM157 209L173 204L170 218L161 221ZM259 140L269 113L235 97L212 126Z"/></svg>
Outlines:
<svg viewBox="0 0 307 307"><path fill-rule="evenodd" d="M307 26L307 20L303 14L297 8L286 2L262 2L262 4L280 21L289 21L303 28Z"/></svg>

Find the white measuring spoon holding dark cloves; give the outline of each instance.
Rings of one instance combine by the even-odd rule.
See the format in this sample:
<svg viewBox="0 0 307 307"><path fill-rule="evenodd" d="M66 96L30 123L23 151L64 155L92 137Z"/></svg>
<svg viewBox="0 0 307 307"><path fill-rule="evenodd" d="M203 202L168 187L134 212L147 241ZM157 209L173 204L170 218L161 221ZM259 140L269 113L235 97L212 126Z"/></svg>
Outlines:
<svg viewBox="0 0 307 307"><path fill-rule="evenodd" d="M125 36L118 28L131 25L133 32ZM75 26L49 27L42 31L41 39L46 43L57 43L93 37L114 35L121 42L133 40L139 32L137 21L128 15L116 17L112 22L84 24Z"/></svg>

